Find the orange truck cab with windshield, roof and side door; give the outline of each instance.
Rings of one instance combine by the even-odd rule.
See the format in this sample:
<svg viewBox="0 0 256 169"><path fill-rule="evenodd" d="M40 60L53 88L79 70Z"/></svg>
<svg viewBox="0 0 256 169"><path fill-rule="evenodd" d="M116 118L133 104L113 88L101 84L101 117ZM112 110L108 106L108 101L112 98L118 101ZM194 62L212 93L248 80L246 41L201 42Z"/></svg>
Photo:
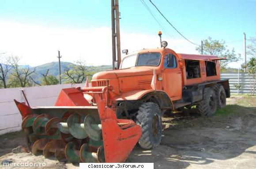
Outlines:
<svg viewBox="0 0 256 169"><path fill-rule="evenodd" d="M173 50L169 48L144 49L125 56L120 69L131 69L132 67L136 67L136 69L146 67L151 69L152 75L155 71L157 76L155 89L165 91L171 100L182 98L183 65Z"/></svg>

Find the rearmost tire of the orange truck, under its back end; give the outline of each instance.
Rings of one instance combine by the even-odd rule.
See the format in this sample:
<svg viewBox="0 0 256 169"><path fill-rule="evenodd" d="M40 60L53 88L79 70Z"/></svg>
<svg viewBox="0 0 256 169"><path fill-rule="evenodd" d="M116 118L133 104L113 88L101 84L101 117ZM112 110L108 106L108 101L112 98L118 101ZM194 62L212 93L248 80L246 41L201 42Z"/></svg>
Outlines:
<svg viewBox="0 0 256 169"><path fill-rule="evenodd" d="M226 92L222 84L219 84L219 83L215 84L212 88L217 98L217 107L218 108L226 107Z"/></svg>

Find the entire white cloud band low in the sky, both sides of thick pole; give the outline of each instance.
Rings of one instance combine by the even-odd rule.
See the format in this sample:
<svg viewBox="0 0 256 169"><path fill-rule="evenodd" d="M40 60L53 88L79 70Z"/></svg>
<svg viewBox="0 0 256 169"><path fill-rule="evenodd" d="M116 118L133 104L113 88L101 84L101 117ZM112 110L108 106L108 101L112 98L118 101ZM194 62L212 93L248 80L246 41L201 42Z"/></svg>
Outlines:
<svg viewBox="0 0 256 169"><path fill-rule="evenodd" d="M22 57L22 64L38 66L47 62L75 62L84 59L89 65L112 64L111 28L56 28L0 22L0 53L6 52ZM195 45L183 39L162 39L178 53L198 53ZM121 49L136 51L160 47L157 35L125 33L121 31Z"/></svg>

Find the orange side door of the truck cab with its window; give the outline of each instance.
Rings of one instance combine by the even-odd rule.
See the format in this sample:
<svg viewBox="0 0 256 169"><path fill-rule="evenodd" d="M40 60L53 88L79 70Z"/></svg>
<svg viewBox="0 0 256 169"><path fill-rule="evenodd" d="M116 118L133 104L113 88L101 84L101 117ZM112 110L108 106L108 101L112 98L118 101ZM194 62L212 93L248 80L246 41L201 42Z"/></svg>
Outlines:
<svg viewBox="0 0 256 169"><path fill-rule="evenodd" d="M163 87L164 91L173 100L182 98L182 74L177 57L172 53L164 57Z"/></svg>

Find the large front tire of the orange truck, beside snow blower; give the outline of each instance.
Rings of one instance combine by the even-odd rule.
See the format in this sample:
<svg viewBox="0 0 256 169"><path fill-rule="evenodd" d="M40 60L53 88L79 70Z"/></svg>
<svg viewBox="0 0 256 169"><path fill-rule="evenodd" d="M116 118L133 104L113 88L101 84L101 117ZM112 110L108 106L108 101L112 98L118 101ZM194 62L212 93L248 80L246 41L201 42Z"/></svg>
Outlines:
<svg viewBox="0 0 256 169"><path fill-rule="evenodd" d="M162 138L162 114L153 102L143 103L136 116L136 124L141 126L140 147L151 149L157 147Z"/></svg>

